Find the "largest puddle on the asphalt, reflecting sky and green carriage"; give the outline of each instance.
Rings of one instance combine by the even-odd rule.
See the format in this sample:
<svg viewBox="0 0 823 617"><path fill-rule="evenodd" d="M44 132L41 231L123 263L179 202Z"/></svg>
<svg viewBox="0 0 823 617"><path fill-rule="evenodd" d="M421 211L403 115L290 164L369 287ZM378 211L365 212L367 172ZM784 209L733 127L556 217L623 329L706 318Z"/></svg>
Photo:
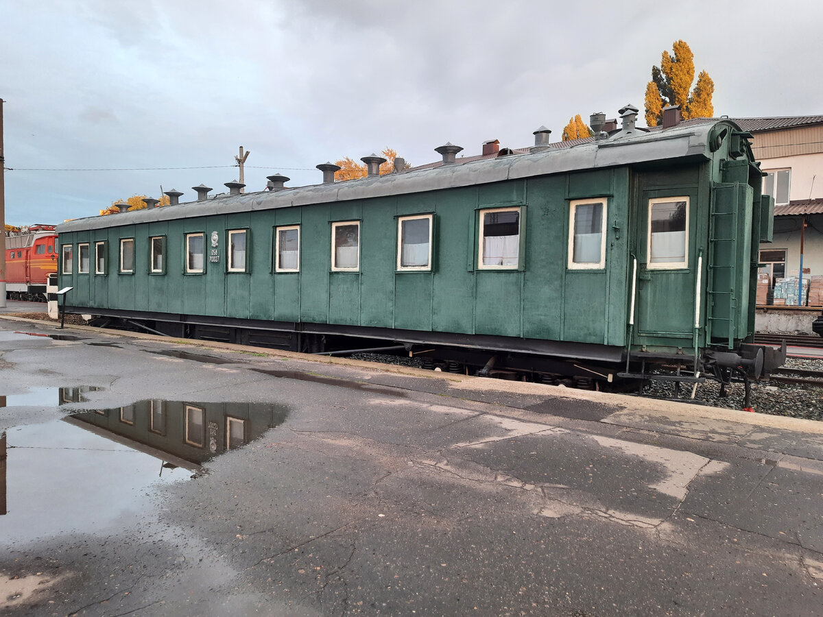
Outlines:
<svg viewBox="0 0 823 617"><path fill-rule="evenodd" d="M147 400L9 429L0 544L134 524L151 509L153 488L198 476L203 463L287 415L280 405ZM0 458L2 446L0 438Z"/></svg>

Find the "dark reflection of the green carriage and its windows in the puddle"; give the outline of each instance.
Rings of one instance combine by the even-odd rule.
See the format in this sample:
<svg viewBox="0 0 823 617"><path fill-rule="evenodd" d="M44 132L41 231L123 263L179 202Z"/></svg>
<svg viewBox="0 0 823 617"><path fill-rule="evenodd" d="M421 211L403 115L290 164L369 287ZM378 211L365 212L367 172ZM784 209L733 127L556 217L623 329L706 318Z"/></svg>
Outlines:
<svg viewBox="0 0 823 617"><path fill-rule="evenodd" d="M60 404L81 402L88 390L60 388ZM203 462L261 437L286 415L286 407L273 404L146 399L63 420L160 458L166 468L199 472Z"/></svg>

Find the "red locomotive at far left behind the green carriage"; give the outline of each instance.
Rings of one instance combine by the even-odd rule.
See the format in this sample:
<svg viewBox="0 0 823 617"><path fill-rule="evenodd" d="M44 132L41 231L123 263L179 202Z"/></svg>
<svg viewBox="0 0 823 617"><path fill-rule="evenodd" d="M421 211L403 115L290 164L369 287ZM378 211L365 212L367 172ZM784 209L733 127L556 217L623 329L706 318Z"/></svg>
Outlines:
<svg viewBox="0 0 823 617"><path fill-rule="evenodd" d="M8 299L44 301L46 278L57 271L54 225L31 225L6 234Z"/></svg>

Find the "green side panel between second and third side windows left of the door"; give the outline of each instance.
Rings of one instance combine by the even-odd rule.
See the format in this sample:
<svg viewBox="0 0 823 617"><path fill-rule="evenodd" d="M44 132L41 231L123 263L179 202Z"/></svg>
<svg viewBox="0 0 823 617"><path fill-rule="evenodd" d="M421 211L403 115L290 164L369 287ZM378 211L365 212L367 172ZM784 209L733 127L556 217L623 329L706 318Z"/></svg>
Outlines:
<svg viewBox="0 0 823 617"><path fill-rule="evenodd" d="M431 329L472 334L477 187L439 191L431 196L435 210Z"/></svg>

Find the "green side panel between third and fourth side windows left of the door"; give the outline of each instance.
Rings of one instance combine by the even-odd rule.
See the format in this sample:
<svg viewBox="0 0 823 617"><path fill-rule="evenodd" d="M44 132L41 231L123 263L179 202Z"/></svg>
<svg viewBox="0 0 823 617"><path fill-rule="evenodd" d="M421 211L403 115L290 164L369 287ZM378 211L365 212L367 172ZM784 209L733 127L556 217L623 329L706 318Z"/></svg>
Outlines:
<svg viewBox="0 0 823 617"><path fill-rule="evenodd" d="M360 324L364 326L393 327L395 311L403 310L395 304L394 295L396 211L394 197L363 204L363 220L367 224L360 226Z"/></svg>

